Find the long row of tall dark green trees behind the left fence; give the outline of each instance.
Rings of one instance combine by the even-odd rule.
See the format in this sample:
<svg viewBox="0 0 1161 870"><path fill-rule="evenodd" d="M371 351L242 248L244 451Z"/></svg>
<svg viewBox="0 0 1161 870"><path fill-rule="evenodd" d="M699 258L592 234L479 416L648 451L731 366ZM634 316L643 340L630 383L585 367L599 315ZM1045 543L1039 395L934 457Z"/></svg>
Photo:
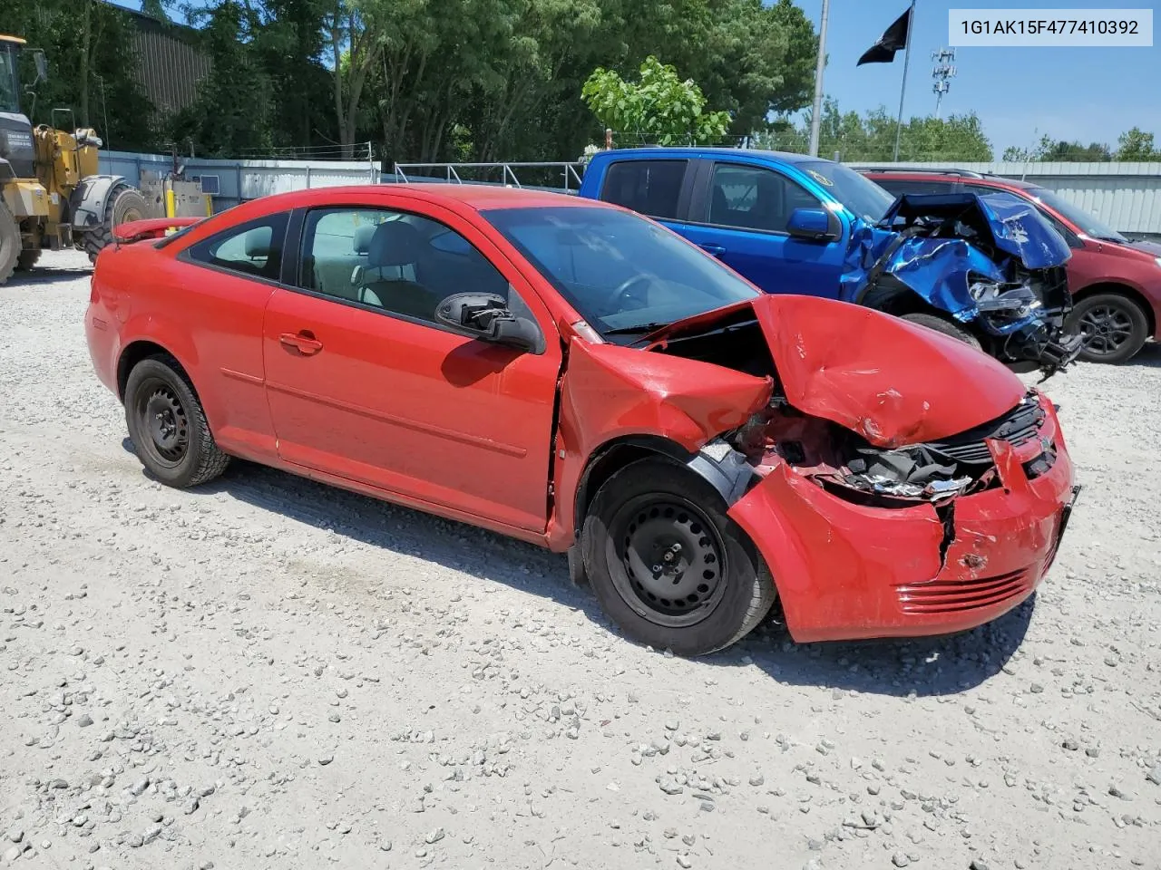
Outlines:
<svg viewBox="0 0 1161 870"><path fill-rule="evenodd" d="M817 45L791 0L145 0L144 10L188 21L192 32L166 27L211 61L181 111L145 99L128 13L6 0L5 27L55 71L37 115L71 106L101 128L103 85L118 147L237 155L373 140L388 162L558 160L600 136L580 95L597 67L632 77L661 58L741 136L806 106Z"/></svg>

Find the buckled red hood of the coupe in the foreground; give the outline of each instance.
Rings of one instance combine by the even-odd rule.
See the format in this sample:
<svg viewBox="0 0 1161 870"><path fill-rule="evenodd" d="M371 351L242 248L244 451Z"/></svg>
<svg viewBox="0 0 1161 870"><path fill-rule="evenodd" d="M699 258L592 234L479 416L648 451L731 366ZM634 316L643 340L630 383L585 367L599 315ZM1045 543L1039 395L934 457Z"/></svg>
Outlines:
<svg viewBox="0 0 1161 870"><path fill-rule="evenodd" d="M1025 393L1002 363L956 339L815 296L763 293L679 320L648 336L647 350L673 353L677 339L748 320L747 310L787 401L877 447L957 435L1010 411Z"/></svg>

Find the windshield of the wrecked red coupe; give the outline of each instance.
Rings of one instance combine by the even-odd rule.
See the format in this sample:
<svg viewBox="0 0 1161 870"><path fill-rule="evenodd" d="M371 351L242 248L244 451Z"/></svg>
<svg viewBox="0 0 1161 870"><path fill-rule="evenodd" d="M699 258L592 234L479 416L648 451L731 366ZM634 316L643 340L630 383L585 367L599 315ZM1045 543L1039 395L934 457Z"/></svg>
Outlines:
<svg viewBox="0 0 1161 870"><path fill-rule="evenodd" d="M483 212L601 334L632 343L654 328L759 295L717 260L646 218L550 206Z"/></svg>

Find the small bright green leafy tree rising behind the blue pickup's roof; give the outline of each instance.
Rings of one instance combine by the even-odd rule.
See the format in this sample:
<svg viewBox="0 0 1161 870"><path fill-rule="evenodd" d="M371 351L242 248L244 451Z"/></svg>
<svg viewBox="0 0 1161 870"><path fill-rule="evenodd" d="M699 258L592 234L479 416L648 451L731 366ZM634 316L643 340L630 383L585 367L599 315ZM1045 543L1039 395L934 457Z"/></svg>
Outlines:
<svg viewBox="0 0 1161 870"><path fill-rule="evenodd" d="M580 95L601 124L640 142L700 145L726 136L729 113L706 111L706 97L693 79L683 81L675 67L652 55L641 64L640 75L630 82L597 67Z"/></svg>

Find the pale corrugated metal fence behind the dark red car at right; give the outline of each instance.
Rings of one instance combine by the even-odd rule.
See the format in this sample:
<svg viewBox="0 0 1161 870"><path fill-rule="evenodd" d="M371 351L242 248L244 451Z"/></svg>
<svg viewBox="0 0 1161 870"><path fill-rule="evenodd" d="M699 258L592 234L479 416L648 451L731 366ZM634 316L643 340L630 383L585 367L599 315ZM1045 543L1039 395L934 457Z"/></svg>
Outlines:
<svg viewBox="0 0 1161 870"><path fill-rule="evenodd" d="M1021 179L1054 190L1123 233L1161 235L1161 162L877 162L875 166L956 168Z"/></svg>

